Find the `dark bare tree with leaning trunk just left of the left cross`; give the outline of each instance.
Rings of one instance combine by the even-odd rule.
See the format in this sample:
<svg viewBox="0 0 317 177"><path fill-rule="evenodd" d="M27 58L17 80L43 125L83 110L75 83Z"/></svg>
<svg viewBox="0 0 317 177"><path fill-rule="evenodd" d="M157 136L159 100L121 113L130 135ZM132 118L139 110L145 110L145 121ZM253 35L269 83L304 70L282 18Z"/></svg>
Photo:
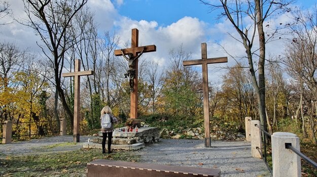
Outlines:
<svg viewBox="0 0 317 177"><path fill-rule="evenodd" d="M72 47L72 36L67 30L87 0L24 0L23 2L24 11L28 17L24 24L34 29L43 42L38 43L38 46L54 69L56 94L58 94L65 113L73 126L73 113L65 99L61 73L64 67L65 52ZM57 117L57 112L55 114Z"/></svg>

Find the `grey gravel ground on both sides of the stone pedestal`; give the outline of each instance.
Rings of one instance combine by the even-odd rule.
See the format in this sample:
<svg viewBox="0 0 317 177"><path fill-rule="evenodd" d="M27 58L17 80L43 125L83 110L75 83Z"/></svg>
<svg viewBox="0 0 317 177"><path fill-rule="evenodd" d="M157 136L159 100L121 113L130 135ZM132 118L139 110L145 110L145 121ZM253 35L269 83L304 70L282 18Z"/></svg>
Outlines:
<svg viewBox="0 0 317 177"><path fill-rule="evenodd" d="M47 137L39 140L0 144L2 154L32 154L71 151L83 147L88 136L69 146L45 148L60 143L72 143L73 136ZM43 148L44 147L44 148ZM219 168L221 176L271 176L262 159L251 157L251 145L245 141L213 141L212 148L204 147L203 140L161 139L135 151L143 163Z"/></svg>

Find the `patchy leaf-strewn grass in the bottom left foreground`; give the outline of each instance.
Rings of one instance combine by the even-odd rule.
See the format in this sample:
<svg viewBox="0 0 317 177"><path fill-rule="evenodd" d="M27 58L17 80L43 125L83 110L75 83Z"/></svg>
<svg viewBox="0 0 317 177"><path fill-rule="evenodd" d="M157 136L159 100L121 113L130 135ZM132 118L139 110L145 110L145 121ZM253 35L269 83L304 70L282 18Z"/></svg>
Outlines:
<svg viewBox="0 0 317 177"><path fill-rule="evenodd" d="M86 149L38 155L0 154L0 176L86 176L86 164L96 159L138 161L133 151L102 154L100 149Z"/></svg>

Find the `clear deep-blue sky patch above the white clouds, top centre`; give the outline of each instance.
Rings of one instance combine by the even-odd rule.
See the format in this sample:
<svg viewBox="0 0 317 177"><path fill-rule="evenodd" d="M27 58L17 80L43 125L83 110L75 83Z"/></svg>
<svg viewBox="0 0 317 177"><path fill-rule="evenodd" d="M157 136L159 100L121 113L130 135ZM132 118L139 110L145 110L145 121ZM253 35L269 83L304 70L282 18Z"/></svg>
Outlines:
<svg viewBox="0 0 317 177"><path fill-rule="evenodd" d="M185 16L210 20L207 7L198 0L130 0L125 1L118 11L131 19L156 21L161 26L172 24Z"/></svg>

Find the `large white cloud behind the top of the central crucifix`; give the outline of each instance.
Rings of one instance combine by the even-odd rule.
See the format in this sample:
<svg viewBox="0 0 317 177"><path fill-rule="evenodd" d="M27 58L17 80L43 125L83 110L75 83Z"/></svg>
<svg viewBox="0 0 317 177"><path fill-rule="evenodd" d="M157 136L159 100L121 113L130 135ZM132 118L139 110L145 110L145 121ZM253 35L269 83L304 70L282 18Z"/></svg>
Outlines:
<svg viewBox="0 0 317 177"><path fill-rule="evenodd" d="M205 38L206 24L197 18L184 17L169 26L158 26L155 21L135 21L122 17L116 21L122 43L119 48L125 48L124 43L131 40L131 29L139 30L139 46L156 45L157 52L148 53L144 58L150 59L162 66L167 64L168 53L183 45L186 52L195 53ZM194 55L193 55L194 57Z"/></svg>

